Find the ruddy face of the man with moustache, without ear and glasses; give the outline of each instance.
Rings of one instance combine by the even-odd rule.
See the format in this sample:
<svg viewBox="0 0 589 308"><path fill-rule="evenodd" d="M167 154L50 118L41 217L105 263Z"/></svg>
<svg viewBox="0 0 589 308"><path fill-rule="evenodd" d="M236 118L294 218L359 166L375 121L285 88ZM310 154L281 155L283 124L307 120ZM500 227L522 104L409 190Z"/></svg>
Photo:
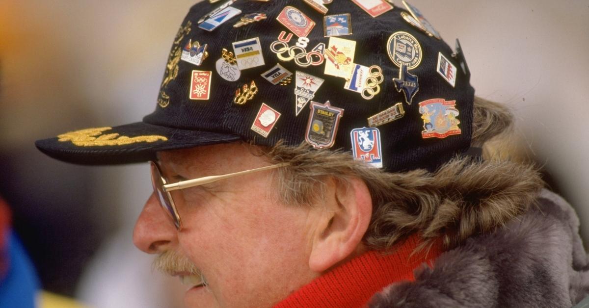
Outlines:
<svg viewBox="0 0 589 308"><path fill-rule="evenodd" d="M209 145L160 152L158 163L175 183L269 165L253 153L246 144ZM272 306L319 276L309 254L320 210L280 203L272 180L263 171L173 191L180 231L154 194L145 203L135 246L165 253L157 267L188 284L188 307Z"/></svg>

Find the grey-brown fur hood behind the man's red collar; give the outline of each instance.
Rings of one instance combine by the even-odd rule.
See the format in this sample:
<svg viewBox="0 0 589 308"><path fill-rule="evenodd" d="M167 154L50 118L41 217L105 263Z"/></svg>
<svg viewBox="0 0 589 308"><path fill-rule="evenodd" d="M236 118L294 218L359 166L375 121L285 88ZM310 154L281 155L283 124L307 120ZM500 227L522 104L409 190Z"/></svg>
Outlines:
<svg viewBox="0 0 589 308"><path fill-rule="evenodd" d="M548 190L504 226L442 253L370 307L571 307L589 293L589 260L571 206Z"/></svg>

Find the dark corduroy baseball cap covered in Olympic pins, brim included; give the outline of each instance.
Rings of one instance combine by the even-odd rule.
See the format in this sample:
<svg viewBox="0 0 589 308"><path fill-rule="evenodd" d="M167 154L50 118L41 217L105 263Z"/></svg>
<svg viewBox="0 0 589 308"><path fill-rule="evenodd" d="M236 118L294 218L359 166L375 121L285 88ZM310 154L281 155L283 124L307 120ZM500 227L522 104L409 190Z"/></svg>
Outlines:
<svg viewBox="0 0 589 308"><path fill-rule="evenodd" d="M470 146L469 78L459 45L405 1L204 1L174 37L153 113L35 144L70 163L121 164L282 140L432 170Z"/></svg>

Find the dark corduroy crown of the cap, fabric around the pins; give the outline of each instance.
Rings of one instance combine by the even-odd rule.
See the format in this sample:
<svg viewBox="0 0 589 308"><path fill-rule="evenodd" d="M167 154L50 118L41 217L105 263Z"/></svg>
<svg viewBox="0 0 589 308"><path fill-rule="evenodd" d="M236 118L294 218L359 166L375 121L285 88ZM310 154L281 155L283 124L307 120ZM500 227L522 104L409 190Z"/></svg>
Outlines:
<svg viewBox="0 0 589 308"><path fill-rule="evenodd" d="M223 2L209 4L203 1L194 5L188 12L171 48L158 96L158 105L152 114L144 118L144 122L184 130L237 134L242 140L259 145L274 145L279 140L283 140L287 145L298 145L305 141L311 110L311 104L307 104L303 111L296 115L294 78L296 78L296 71L302 71L325 80L315 92L313 101L320 103L329 101L333 107L344 110L335 132L333 148L350 150L352 148L350 131L368 127L367 118L399 102L402 103L405 115L398 120L378 126L382 140L383 167L386 170L435 168L452 155L469 147L474 98L474 89L469 84L469 76L460 68L461 63L458 59L452 57L453 51L444 41L429 36L403 19L401 13L406 12L405 9L396 6L391 11L373 18L352 1L333 1L332 4L327 5L329 11L326 15L348 13L351 16L353 34L337 38L356 42L353 63L366 67L378 65L382 68L384 80L380 84L379 94L371 100L365 100L359 93L343 88L346 83L345 78L324 73L325 62L329 61L327 57L322 65L300 67L294 61L280 61L277 54L270 50L270 45L277 41L280 32L290 33L289 29L276 21L285 6L299 9L316 23L307 35L309 39L307 51L321 42L325 43L326 49L329 48L330 38L324 37L323 32L323 15L305 2L236 1L231 6L240 9L242 14L219 25L213 31L199 28L199 19L221 4ZM239 21L239 16L255 12L266 14L267 19L239 28L232 27ZM407 104L403 92L399 92L395 87L393 78L399 78L400 68L392 61L388 52L389 38L399 31L411 35L421 47L419 64L408 70L409 73L418 77L419 87L411 104ZM241 70L241 76L237 81L231 82L221 78L216 71L216 61L221 58L221 49L233 51L233 42L250 38L259 38L265 65ZM200 66L180 59L183 47L194 41L198 41L200 45L207 44L207 52L209 52L209 57ZM288 43L289 46L296 44L296 41L297 36L293 35ZM437 71L440 52L458 67L454 87ZM293 81L289 85L273 85L260 75L276 64L282 65L293 73ZM191 77L194 70L211 72L208 100L190 99ZM259 90L257 94L243 105L235 104L236 90L243 84L249 85L252 81ZM419 102L434 98L455 101L455 109L459 111L457 118L460 134L445 138L422 137L425 120L422 118ZM267 137L251 129L263 103L280 114ZM423 112L423 109L421 111Z"/></svg>

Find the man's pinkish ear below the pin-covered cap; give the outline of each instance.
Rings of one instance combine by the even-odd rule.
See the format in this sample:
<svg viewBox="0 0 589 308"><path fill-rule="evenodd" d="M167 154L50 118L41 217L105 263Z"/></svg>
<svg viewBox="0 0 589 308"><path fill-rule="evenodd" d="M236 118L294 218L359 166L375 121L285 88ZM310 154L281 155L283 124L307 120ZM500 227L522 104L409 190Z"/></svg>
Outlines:
<svg viewBox="0 0 589 308"><path fill-rule="evenodd" d="M309 257L309 267L322 272L352 256L370 224L372 198L359 178L329 181Z"/></svg>

